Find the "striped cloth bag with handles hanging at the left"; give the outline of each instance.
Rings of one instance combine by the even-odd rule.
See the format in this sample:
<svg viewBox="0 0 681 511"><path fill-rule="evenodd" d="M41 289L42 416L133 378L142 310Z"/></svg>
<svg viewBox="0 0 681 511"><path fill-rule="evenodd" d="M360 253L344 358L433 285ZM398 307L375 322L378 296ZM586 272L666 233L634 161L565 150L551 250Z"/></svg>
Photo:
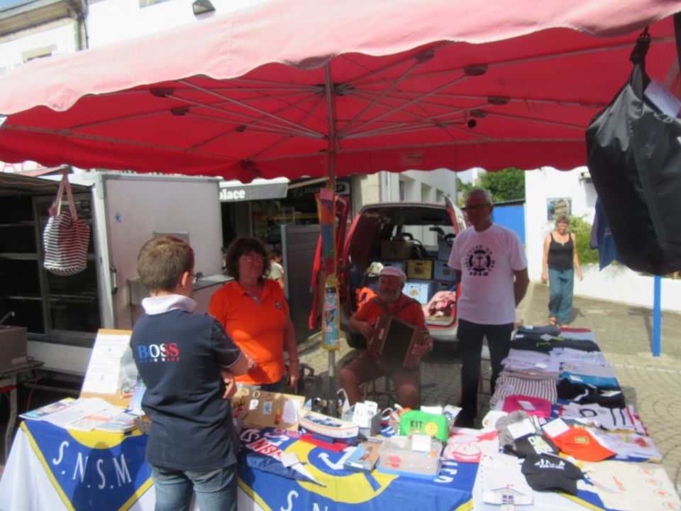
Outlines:
<svg viewBox="0 0 681 511"><path fill-rule="evenodd" d="M62 195L66 190L70 211L62 211ZM78 218L67 172L59 185L57 199L50 207L50 219L43 232L45 262L50 273L67 277L82 272L87 267L87 246L90 226Z"/></svg>

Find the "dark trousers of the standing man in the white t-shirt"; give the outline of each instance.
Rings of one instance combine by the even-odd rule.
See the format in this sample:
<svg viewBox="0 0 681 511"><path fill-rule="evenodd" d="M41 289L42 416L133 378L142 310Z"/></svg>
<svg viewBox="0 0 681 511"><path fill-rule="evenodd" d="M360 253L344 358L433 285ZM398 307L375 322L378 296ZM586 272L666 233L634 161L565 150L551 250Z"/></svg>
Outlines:
<svg viewBox="0 0 681 511"><path fill-rule="evenodd" d="M502 371L502 360L511 348L511 332L513 323L488 325L467 322L459 319L457 339L461 353L461 414L465 417L477 417L477 388L480 380L480 358L482 356L482 339L487 337L489 359L492 362L492 380L489 386L494 393L499 373Z"/></svg>

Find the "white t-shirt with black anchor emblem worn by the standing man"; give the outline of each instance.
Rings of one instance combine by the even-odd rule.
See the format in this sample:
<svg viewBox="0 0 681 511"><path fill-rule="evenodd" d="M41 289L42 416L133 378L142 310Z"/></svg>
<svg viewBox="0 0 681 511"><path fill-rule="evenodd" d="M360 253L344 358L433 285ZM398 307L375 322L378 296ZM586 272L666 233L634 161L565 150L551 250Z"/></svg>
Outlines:
<svg viewBox="0 0 681 511"><path fill-rule="evenodd" d="M458 317L477 324L516 320L514 271L527 268L527 259L514 231L497 224L482 232L469 227L454 238L448 265L461 270Z"/></svg>

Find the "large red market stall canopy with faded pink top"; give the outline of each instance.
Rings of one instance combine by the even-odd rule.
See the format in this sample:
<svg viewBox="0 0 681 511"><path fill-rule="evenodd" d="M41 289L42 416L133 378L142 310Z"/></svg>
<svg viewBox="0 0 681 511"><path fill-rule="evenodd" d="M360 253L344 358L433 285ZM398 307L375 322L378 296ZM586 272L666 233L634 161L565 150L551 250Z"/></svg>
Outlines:
<svg viewBox="0 0 681 511"><path fill-rule="evenodd" d="M676 0L271 1L0 77L0 160L253 177L584 165ZM331 165L331 167L330 167Z"/></svg>

